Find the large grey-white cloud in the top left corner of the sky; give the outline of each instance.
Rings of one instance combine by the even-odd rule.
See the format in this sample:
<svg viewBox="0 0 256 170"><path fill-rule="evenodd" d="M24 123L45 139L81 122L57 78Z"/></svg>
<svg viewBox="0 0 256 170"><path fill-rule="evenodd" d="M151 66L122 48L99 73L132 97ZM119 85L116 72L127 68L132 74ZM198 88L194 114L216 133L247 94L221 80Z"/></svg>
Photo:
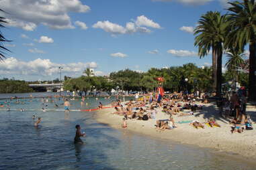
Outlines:
<svg viewBox="0 0 256 170"><path fill-rule="evenodd" d="M73 29L68 13L85 13L90 7L80 0L1 0L9 25L33 31L40 24L52 29Z"/></svg>

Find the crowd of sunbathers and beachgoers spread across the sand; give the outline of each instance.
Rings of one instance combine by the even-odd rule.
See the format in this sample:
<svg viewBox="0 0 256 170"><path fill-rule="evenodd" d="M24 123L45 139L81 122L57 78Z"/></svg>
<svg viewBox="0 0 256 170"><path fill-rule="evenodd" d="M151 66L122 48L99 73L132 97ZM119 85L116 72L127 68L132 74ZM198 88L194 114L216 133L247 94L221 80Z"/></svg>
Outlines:
<svg viewBox="0 0 256 170"><path fill-rule="evenodd" d="M162 112L165 112L169 116L167 119L156 120L156 128L164 131L165 129L176 128L175 116L193 116L195 112L203 109L203 105L209 102L209 96L206 94L183 94L176 93L163 96L161 101L157 98L153 98L153 94L143 94L138 97L135 95L135 100L130 100L126 103L122 103L120 100L112 102L112 106L115 108L113 114L124 116L122 118L122 127L127 128L127 120L150 120L155 119L157 114L157 108L160 108ZM238 92L232 92L232 96L227 98L222 103L224 109L220 109L223 118L230 120L231 132L242 133L243 130L251 130L252 120L249 115L246 114L246 92L244 88L241 88ZM205 128L205 125L209 127L220 127L220 124L212 116L204 122L198 120L192 120L189 122L191 126L196 129Z"/></svg>

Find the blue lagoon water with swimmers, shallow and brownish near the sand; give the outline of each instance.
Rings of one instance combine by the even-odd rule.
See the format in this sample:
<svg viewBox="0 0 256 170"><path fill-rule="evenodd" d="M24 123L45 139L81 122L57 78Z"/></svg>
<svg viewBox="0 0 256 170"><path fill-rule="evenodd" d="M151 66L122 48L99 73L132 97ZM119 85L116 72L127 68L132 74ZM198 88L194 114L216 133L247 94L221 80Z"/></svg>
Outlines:
<svg viewBox="0 0 256 170"><path fill-rule="evenodd" d="M12 109L25 108L26 112L0 110L0 169L255 169L209 149L112 129L97 122L95 112L42 112L40 100L11 101ZM98 102L111 100L114 98L90 97L86 99L89 106L81 106L77 98L71 101L71 109L95 108ZM48 109L56 109L54 103L63 108L62 101L55 99L48 102ZM34 114L42 117L38 128L34 127ZM84 145L73 144L76 124L87 134Z"/></svg>

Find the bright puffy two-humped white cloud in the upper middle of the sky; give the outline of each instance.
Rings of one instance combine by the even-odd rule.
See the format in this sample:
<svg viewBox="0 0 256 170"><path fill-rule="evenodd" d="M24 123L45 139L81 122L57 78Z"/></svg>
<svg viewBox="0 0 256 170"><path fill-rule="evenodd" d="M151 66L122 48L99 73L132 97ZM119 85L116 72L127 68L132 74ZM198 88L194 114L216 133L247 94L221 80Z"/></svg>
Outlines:
<svg viewBox="0 0 256 170"><path fill-rule="evenodd" d="M145 27L142 27L145 26ZM151 30L147 27L161 28L158 23L155 23L151 19L148 19L144 15L137 17L136 21L126 23L126 26L119 25L117 23L112 23L110 21L97 21L93 24L93 28L103 29L112 35L125 34L125 33L150 33Z"/></svg>

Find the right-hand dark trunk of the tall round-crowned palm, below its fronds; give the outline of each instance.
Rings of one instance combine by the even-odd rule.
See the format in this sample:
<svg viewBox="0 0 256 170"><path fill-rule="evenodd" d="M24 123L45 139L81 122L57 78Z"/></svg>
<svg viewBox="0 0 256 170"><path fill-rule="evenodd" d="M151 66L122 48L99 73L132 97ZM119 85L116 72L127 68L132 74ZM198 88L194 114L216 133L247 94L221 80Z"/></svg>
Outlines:
<svg viewBox="0 0 256 170"><path fill-rule="evenodd" d="M220 46L222 46L220 44ZM221 84L222 84L222 51L216 52L217 54L217 82L216 82L216 96L221 97Z"/></svg>

